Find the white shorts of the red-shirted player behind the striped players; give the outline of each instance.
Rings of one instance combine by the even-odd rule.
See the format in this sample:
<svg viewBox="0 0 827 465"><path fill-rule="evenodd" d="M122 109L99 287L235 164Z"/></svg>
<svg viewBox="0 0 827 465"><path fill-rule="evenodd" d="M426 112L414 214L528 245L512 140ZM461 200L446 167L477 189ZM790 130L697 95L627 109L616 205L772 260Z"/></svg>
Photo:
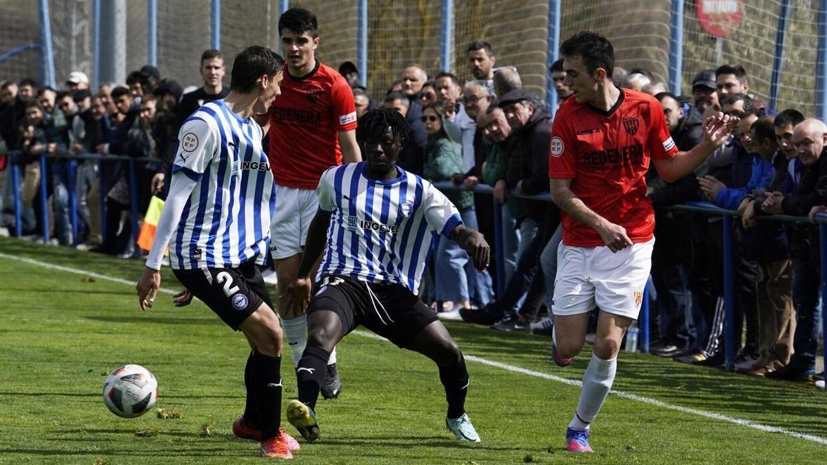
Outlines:
<svg viewBox="0 0 827 465"><path fill-rule="evenodd" d="M275 185L275 211L270 222L270 254L275 260L302 252L317 210L315 190Z"/></svg>

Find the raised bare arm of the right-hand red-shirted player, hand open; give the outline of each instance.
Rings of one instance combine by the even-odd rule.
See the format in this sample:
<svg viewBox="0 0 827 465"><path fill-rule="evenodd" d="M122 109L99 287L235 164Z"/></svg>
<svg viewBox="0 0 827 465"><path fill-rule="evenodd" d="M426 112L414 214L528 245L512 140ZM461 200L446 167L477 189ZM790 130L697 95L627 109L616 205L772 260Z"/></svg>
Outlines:
<svg viewBox="0 0 827 465"><path fill-rule="evenodd" d="M712 155L732 132L732 128L739 122L738 117L718 113L706 118L704 122L704 137L700 143L689 151L680 151L675 156L666 159L653 159L657 174L667 182L675 182L696 170L707 158Z"/></svg>

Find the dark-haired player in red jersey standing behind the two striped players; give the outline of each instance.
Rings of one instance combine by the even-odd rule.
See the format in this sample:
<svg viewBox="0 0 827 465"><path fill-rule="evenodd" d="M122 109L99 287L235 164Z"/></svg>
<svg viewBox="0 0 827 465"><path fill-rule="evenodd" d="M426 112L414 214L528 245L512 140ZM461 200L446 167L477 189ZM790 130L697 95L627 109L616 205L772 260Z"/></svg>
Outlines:
<svg viewBox="0 0 827 465"><path fill-rule="evenodd" d="M331 166L361 161L361 151L353 92L342 74L316 60L316 16L290 8L279 18L279 35L287 72L281 95L268 112L268 156L278 199L270 224L270 253L279 279L284 338L297 365L307 343L307 317L304 308L288 308L281 294L299 271L308 227L318 210L318 180ZM334 349L322 395L329 399L340 390Z"/></svg>

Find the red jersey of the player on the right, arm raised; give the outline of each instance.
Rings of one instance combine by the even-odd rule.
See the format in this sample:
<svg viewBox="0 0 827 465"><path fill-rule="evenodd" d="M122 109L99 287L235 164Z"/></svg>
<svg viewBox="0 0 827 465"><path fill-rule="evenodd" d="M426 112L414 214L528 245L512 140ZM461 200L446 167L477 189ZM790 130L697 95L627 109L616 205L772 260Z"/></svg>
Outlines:
<svg viewBox="0 0 827 465"><path fill-rule="evenodd" d="M661 104L647 93L620 89L608 112L568 98L557 110L548 156L551 178L571 179L571 192L601 217L626 228L632 242L653 237L646 195L650 158L675 156ZM562 215L563 243L605 245L595 229Z"/></svg>

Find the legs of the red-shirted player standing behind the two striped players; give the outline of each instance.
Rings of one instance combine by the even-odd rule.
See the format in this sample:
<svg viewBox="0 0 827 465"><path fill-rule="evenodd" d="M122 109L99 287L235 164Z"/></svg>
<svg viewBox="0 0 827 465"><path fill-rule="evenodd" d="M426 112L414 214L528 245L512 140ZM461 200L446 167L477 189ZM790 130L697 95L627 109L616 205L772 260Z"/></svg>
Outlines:
<svg viewBox="0 0 827 465"><path fill-rule="evenodd" d="M276 276L279 278L280 296L284 294L284 289L296 277L301 261L302 254L300 253L275 261ZM313 268L315 269L317 267L318 263ZM315 272L313 272L311 276L314 274ZM289 309L281 297L279 297L279 308L281 325L284 328L284 338L287 340L290 354L293 356L293 365L299 367L299 360L301 360L304 348L307 346L308 322L307 316L304 314L305 309ZM329 352L330 358L327 360L327 367L325 367L327 381L322 386L322 395L325 399L334 399L338 397L342 391L342 381L339 380L339 373L336 367L336 348L332 348Z"/></svg>

